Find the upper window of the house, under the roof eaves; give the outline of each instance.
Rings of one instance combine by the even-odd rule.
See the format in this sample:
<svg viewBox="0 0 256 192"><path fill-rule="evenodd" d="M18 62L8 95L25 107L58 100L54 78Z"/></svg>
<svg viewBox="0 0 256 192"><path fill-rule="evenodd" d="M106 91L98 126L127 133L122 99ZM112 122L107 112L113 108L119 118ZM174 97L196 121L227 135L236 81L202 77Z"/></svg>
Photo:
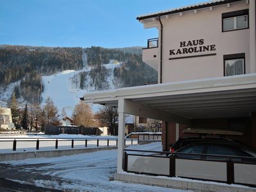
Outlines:
<svg viewBox="0 0 256 192"><path fill-rule="evenodd" d="M249 28L248 10L222 14L222 31L233 31L247 28Z"/></svg>

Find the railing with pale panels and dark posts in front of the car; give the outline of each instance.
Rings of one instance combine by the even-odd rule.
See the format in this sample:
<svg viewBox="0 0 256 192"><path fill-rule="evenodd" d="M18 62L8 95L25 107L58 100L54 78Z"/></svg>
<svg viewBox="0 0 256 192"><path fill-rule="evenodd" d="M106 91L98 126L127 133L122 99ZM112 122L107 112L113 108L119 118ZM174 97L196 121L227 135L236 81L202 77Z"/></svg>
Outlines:
<svg viewBox="0 0 256 192"><path fill-rule="evenodd" d="M211 180L256 187L255 157L129 149L124 151L125 172Z"/></svg>

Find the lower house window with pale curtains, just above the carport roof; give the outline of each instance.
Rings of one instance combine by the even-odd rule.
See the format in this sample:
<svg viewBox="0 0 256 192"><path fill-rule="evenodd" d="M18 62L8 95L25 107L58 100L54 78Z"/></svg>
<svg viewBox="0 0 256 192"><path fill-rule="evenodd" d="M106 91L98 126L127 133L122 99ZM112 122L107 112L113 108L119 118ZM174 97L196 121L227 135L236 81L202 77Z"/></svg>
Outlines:
<svg viewBox="0 0 256 192"><path fill-rule="evenodd" d="M224 76L245 74L245 54L228 54L223 56Z"/></svg>

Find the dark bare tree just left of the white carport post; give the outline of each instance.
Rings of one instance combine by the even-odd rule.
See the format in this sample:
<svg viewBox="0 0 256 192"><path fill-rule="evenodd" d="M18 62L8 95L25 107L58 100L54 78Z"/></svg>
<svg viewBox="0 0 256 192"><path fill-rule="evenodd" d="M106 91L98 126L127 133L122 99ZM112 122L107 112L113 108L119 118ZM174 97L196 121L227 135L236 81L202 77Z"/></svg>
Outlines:
<svg viewBox="0 0 256 192"><path fill-rule="evenodd" d="M99 120L100 125L108 126L108 131L111 135L115 135L115 126L118 118L117 108L106 107L100 109L99 113L95 115L95 118Z"/></svg>

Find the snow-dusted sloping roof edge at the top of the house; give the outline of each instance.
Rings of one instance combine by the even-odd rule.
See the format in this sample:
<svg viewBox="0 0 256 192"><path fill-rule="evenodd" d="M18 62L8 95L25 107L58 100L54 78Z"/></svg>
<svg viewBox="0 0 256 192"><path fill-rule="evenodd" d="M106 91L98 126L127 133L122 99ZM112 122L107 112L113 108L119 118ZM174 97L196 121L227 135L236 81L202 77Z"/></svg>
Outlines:
<svg viewBox="0 0 256 192"><path fill-rule="evenodd" d="M163 16L163 15L170 15L173 13L179 13L179 12L186 12L189 10L195 10L198 8L207 8L209 6L216 6L216 5L220 5L220 4L225 4L225 3L233 3L236 1L243 1L243 0L214 0L214 1L205 1L203 3L198 3L198 4L191 4L189 6L184 6L184 7L180 7L180 8L175 8L172 10L165 10L165 11L161 11L161 12L155 12L155 13L149 13L146 15L140 15L137 17L138 20L143 20L143 19L150 19L153 17L159 17L159 16Z"/></svg>

